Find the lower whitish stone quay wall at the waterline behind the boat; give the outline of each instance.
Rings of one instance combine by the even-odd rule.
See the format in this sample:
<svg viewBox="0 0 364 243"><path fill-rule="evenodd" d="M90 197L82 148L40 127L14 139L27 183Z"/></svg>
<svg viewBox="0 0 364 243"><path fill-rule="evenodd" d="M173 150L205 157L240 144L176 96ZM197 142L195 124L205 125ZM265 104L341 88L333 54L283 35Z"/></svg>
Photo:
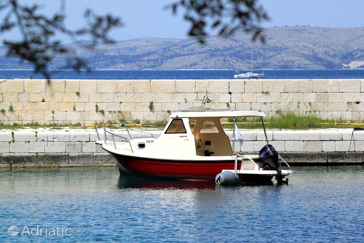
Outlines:
<svg viewBox="0 0 364 243"><path fill-rule="evenodd" d="M125 130L111 130L128 137ZM153 133L160 134L161 131ZM232 140L232 131L226 133ZM266 144L261 130L241 130L241 134L245 140L242 148L239 148L239 142L235 143L235 151L239 153L257 154ZM143 136L134 131L131 135ZM352 129L267 130L267 135L270 144L292 165L297 162L363 162L364 131L354 132L355 146L354 142L350 146ZM0 167L94 166L100 162L104 166L116 166L114 158L100 145L96 146L96 140L94 129L3 130L0 131Z"/></svg>

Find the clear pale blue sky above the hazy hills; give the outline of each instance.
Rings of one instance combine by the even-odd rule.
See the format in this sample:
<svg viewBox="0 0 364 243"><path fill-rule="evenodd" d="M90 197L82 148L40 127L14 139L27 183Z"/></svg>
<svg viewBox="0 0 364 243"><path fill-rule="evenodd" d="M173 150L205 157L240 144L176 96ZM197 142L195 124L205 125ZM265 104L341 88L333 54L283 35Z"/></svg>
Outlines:
<svg viewBox="0 0 364 243"><path fill-rule="evenodd" d="M60 0L19 1L40 4L41 12L47 15L60 8ZM173 15L171 10L164 9L175 1L178 0L66 0L66 26L71 29L81 27L84 9L91 8L98 15L111 13L121 17L124 27L111 32L116 41L139 37L187 38L189 24L183 20L182 11ZM259 0L258 3L270 16L269 21L261 23L262 27L364 27L363 0ZM19 37L18 32L11 31L0 35L0 41ZM58 37L62 43L73 42L67 36Z"/></svg>

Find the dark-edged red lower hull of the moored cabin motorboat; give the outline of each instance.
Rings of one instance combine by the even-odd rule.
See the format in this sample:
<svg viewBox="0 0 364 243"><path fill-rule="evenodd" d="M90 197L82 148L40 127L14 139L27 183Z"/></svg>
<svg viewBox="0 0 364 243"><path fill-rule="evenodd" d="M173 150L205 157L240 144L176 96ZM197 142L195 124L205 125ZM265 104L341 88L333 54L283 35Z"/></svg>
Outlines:
<svg viewBox="0 0 364 243"><path fill-rule="evenodd" d="M120 175L215 180L222 170L234 169L235 160L164 160L126 156L110 152L118 163ZM238 169L241 163L238 162ZM239 175L242 182L270 181L272 176Z"/></svg>

